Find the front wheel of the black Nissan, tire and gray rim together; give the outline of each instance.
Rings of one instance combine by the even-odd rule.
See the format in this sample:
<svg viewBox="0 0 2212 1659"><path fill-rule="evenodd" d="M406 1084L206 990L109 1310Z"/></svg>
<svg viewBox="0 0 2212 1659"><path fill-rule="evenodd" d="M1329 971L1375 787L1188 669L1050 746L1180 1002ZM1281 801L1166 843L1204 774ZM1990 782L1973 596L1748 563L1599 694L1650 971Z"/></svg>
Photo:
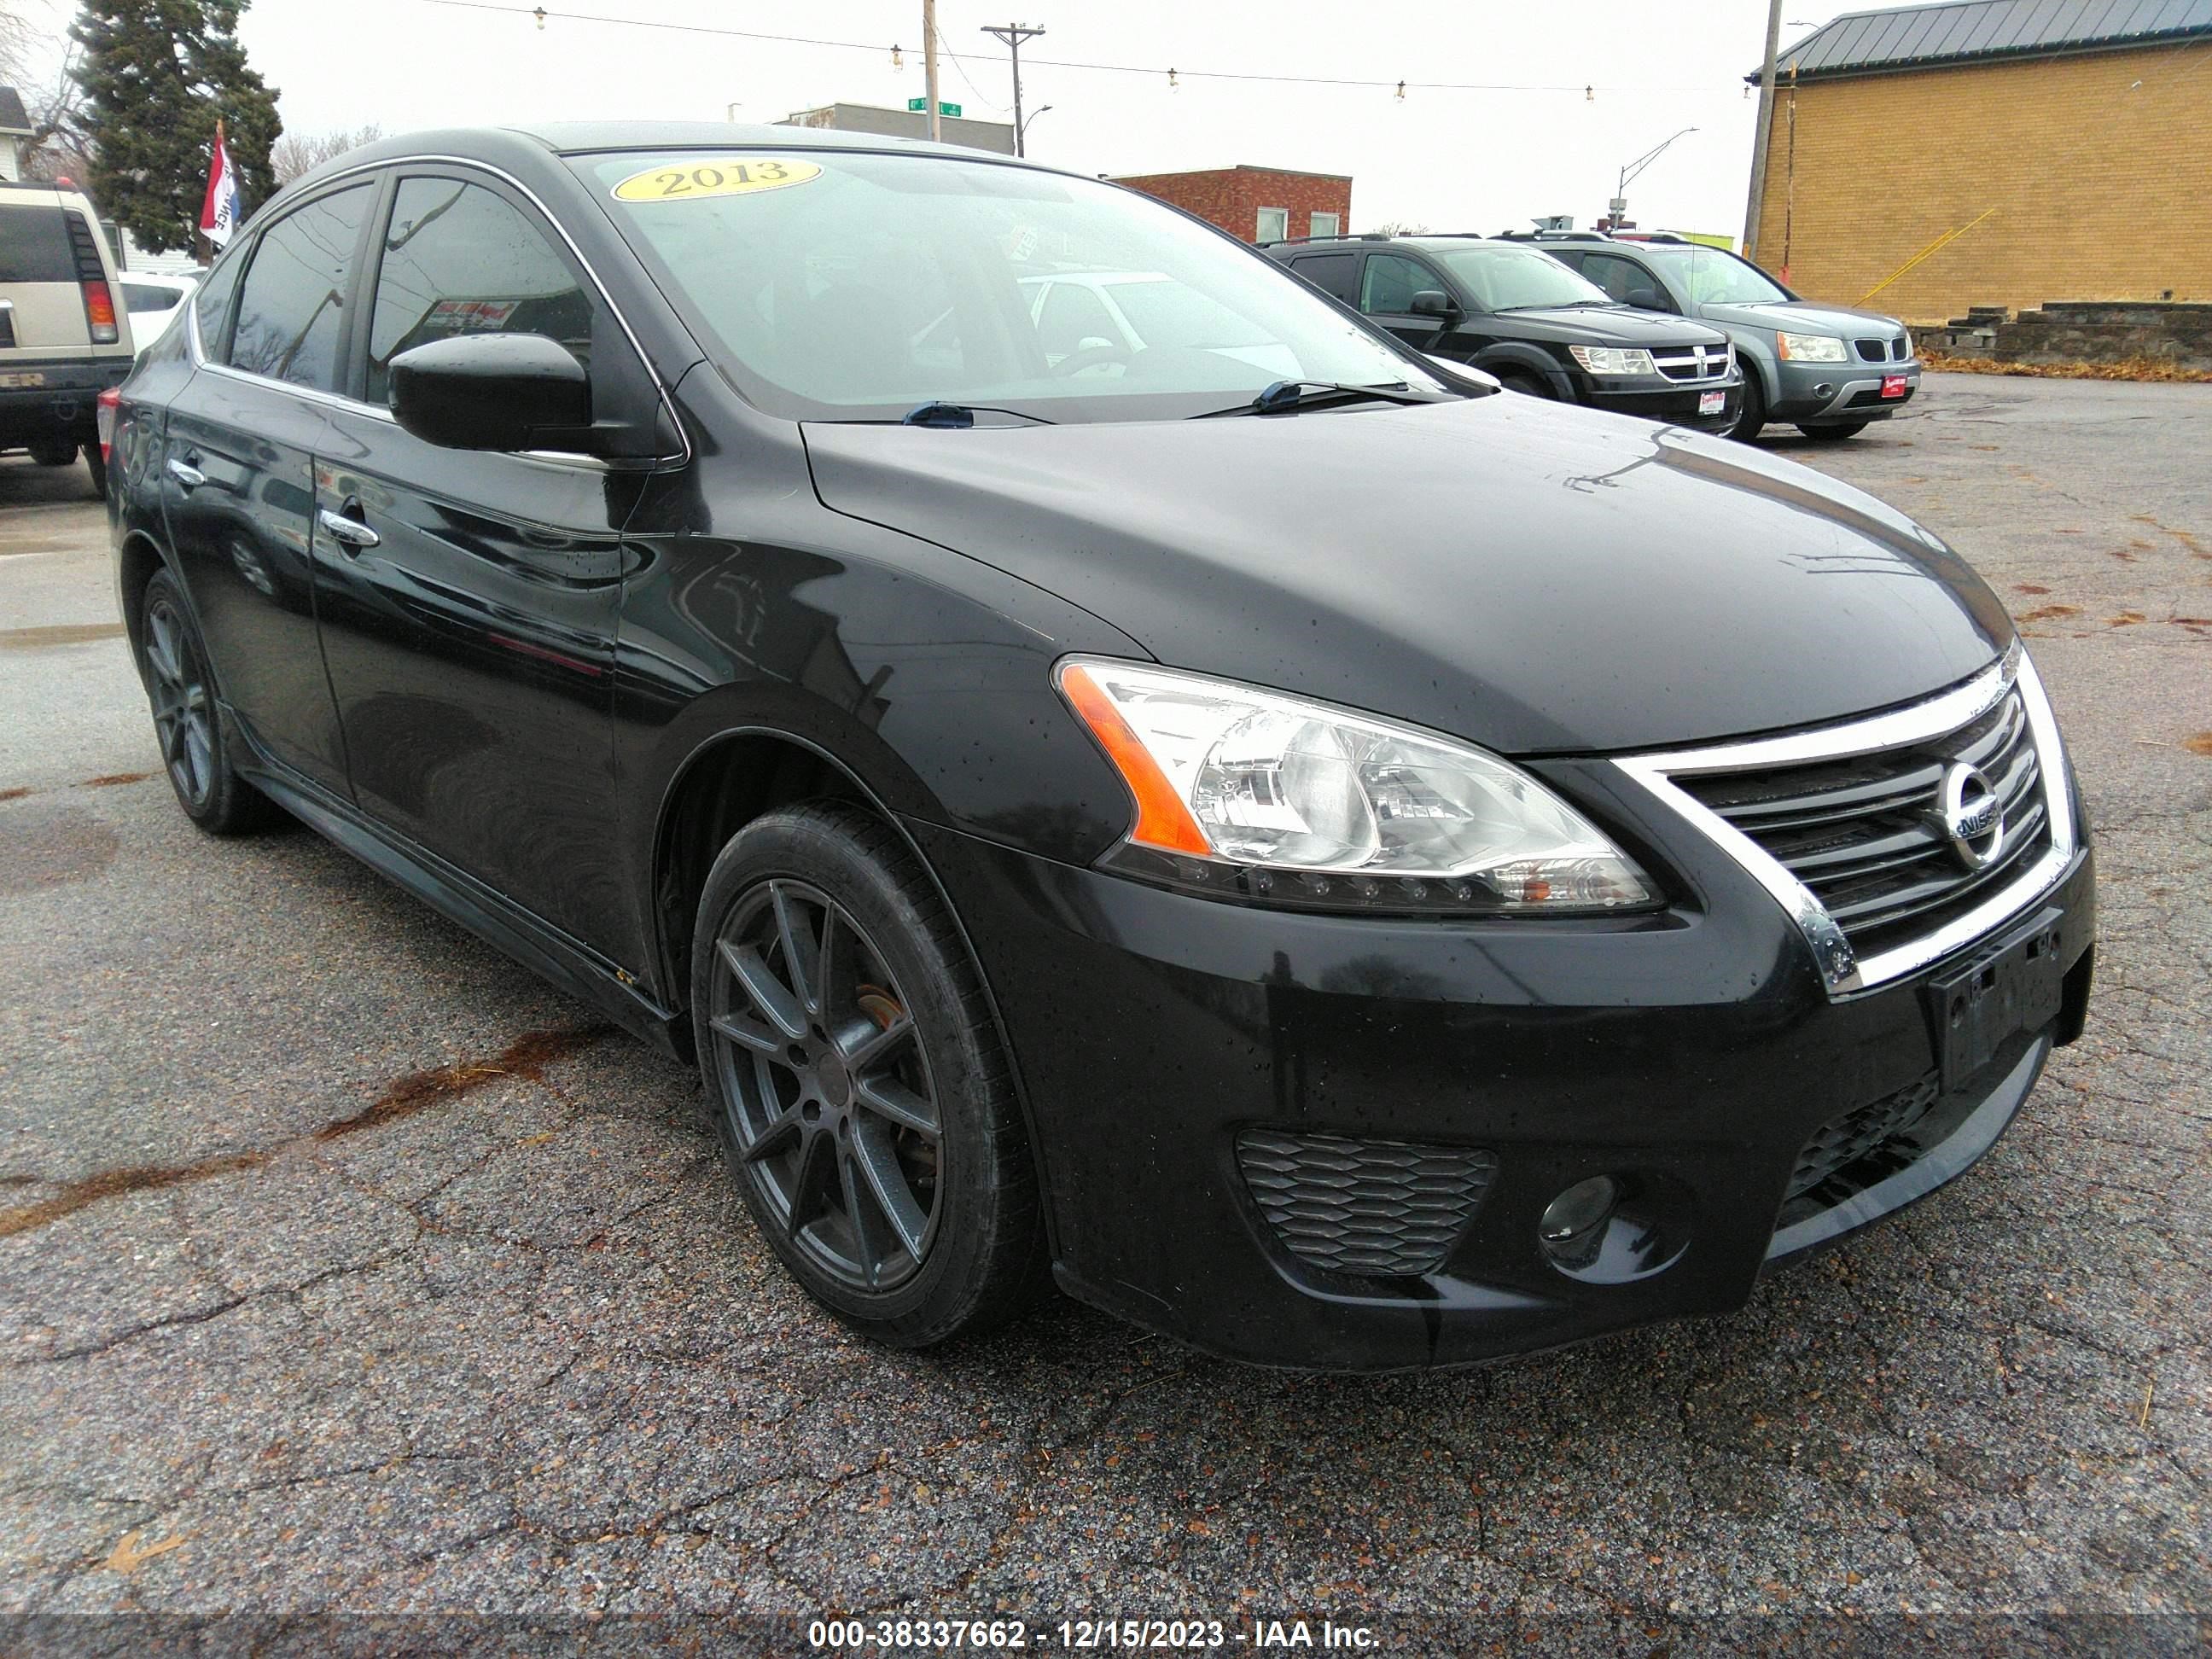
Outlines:
<svg viewBox="0 0 2212 1659"><path fill-rule="evenodd" d="M1029 1135L907 843L841 801L757 818L708 872L690 971L708 1110L807 1294L894 1347L1020 1314L1044 1283Z"/></svg>

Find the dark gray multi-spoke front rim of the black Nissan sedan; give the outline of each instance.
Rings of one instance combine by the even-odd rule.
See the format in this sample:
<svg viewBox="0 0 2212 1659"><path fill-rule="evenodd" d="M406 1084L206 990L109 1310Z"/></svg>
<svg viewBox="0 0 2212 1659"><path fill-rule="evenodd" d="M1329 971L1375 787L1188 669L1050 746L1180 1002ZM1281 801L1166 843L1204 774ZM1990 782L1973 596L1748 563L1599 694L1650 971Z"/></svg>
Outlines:
<svg viewBox="0 0 2212 1659"><path fill-rule="evenodd" d="M803 880L750 887L714 956L708 1026L745 1177L830 1279L898 1287L936 1241L945 1130L896 975Z"/></svg>

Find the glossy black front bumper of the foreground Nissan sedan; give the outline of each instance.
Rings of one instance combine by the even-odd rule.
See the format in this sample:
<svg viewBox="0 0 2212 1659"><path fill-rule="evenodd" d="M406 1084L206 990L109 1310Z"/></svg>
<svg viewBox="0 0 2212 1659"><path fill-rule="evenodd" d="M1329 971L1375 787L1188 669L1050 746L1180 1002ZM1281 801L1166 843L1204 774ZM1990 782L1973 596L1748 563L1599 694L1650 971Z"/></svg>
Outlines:
<svg viewBox="0 0 2212 1659"><path fill-rule="evenodd" d="M1458 1365L1739 1307L1774 1261L1980 1157L2088 998L2084 847L2044 898L2073 969L2057 1022L1785 1212L1816 1135L1927 1088L1920 987L1947 962L1832 1002L1803 936L1719 849L1668 847L1690 889L1666 911L1433 922L1248 909L911 830L1015 1053L1062 1287L1263 1365ZM1438 1270L1332 1272L1270 1221L1239 1152L1252 1135L1495 1164ZM1540 1219L1615 1172L1661 1194L1670 1259L1575 1276Z"/></svg>

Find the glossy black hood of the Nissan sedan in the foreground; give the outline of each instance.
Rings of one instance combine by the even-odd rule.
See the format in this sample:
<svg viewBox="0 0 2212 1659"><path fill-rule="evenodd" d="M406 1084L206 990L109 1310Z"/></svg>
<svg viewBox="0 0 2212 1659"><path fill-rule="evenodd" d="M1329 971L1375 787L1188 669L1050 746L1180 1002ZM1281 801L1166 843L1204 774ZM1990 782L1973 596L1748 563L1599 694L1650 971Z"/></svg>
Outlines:
<svg viewBox="0 0 2212 1659"><path fill-rule="evenodd" d="M1513 394L1128 425L805 427L825 507L1159 661L1613 752L1927 697L2011 641L1938 538L1745 445Z"/></svg>

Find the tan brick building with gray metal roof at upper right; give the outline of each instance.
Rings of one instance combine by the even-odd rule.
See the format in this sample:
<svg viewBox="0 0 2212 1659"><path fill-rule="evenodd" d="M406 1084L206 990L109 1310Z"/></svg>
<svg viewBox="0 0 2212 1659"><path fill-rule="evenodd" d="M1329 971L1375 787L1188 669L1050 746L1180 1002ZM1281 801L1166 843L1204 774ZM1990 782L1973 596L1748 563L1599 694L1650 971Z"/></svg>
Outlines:
<svg viewBox="0 0 2212 1659"><path fill-rule="evenodd" d="M1776 60L1754 257L1918 323L2208 301L2208 166L2212 0L1860 11Z"/></svg>

